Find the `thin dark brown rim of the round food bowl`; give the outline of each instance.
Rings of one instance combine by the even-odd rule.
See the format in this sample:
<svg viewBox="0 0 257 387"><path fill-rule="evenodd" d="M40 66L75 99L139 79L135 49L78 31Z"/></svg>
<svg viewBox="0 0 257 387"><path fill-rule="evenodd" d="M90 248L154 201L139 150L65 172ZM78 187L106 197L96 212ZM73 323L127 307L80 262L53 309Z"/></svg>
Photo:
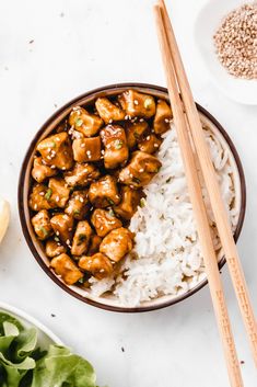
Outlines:
<svg viewBox="0 0 257 387"><path fill-rule="evenodd" d="M170 300L164 300L163 303L160 303L157 305L148 305L148 306L136 306L136 307L125 307L125 306L115 306L115 305L106 305L104 303L100 303L96 301L94 299L90 299L86 296L82 296L81 294L77 293L75 291L73 291L71 287L67 286L63 282L59 281L58 277L52 273L52 271L44 263L43 259L40 258L40 255L38 254L32 239L30 236L30 231L28 231L28 227L27 227L27 223L26 223L26 218L25 218L25 213L24 213L24 208L23 208L23 203L24 203L24 179L25 179L25 173L26 173L26 169L27 169L27 164L31 158L31 153L34 151L35 145L38 140L38 138L43 135L43 133L46 130L46 128L49 126L49 124L57 118L61 112L63 112L66 109L68 109L70 105L74 104L78 100L80 99L84 99L87 98L92 94L95 93L100 93L100 92L106 92L110 89L124 89L124 88L133 88L133 89L152 89L155 90L157 92L163 92L167 94L167 89L160 87L160 86L155 86L155 84L150 84L150 83L139 83L139 82L126 82L126 83L114 83L114 84L108 84L108 86L104 86L97 89L93 89L90 90L85 93L80 94L79 96L72 99L71 101L69 101L68 103L66 103L65 105L62 105L60 109L58 109L43 125L42 127L38 129L38 132L35 134L34 138L32 139L26 152L25 152L25 157L23 159L22 166L21 166L21 172L20 172L20 178L19 178L19 185L17 185L17 207L19 207L19 215L20 215L20 223L22 226L22 231L23 235L25 237L26 243L32 252L32 254L34 255L34 258L36 259L37 263L40 265L40 268L44 270L44 272L58 285L60 286L63 291L66 291L67 293L69 293L70 295L72 295L73 297L82 300L85 304L92 305L94 307L101 308L101 309L105 309L108 311L116 311L116 312L143 312L143 311L152 311L152 310L157 310L157 309L162 309L162 308L166 308L168 306L175 305L190 296L192 296L194 294L196 294L197 292L199 292L201 288L203 288L207 284L208 284L208 280L202 281L199 285L195 286L192 289L189 289L188 292L186 292L185 294L182 294L175 298L171 298ZM207 118L209 118L212 124L219 129L219 132L221 133L221 135L224 137L225 141L227 143L237 170L238 170L238 175L240 175L240 181L241 181L241 209L240 209L240 216L238 216L238 223L237 223L237 227L236 230L234 232L234 240L237 241L241 231L242 231L242 227L244 224L244 218L245 218L245 210L246 210L246 183L245 183L245 175L244 175L244 170L243 170L243 166L240 159L240 156L237 153L237 150L232 141L232 139L230 138L230 136L227 135L227 133L225 132L225 129L222 127L222 125L201 105L199 105L198 103L196 103L197 109L200 113L202 113ZM222 259L219 262L219 269L221 269L223 265L225 264L225 258L222 257Z"/></svg>

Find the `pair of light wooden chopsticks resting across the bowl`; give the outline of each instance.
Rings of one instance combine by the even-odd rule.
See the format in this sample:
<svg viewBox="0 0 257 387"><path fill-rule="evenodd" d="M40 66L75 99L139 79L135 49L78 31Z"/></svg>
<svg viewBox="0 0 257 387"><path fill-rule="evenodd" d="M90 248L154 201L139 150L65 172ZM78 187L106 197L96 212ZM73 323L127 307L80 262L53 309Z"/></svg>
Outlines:
<svg viewBox="0 0 257 387"><path fill-rule="evenodd" d="M243 386L243 380L219 273L217 255L210 232L207 210L202 198L196 159L199 160L242 318L249 339L254 361L257 366L256 320L250 305L249 294L240 262L240 257L231 230L229 216L221 196L210 152L206 145L202 125L192 98L190 86L187 80L164 0L159 0L159 3L154 7L154 13L156 18L157 34L166 73L168 95L173 107L174 122L177 130L178 144L183 156L212 304L224 349L230 383L233 387L241 387ZM192 144L195 149L192 149Z"/></svg>

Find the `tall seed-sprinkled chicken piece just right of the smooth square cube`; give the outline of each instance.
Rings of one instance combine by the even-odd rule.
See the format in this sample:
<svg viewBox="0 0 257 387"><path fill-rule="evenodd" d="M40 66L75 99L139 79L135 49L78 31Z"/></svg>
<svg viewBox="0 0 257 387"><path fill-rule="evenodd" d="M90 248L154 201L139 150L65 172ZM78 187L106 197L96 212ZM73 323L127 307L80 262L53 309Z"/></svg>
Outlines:
<svg viewBox="0 0 257 387"><path fill-rule="evenodd" d="M119 125L107 125L101 130L101 138L105 146L105 168L114 169L122 166L129 157L124 128Z"/></svg>

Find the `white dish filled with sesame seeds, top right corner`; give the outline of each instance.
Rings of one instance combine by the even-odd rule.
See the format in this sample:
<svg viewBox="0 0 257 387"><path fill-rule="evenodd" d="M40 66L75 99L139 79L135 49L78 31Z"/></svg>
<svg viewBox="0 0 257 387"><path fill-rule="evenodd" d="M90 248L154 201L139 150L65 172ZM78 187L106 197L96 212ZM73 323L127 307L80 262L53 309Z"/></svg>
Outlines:
<svg viewBox="0 0 257 387"><path fill-rule="evenodd" d="M195 41L211 81L230 99L257 105L257 2L210 0Z"/></svg>

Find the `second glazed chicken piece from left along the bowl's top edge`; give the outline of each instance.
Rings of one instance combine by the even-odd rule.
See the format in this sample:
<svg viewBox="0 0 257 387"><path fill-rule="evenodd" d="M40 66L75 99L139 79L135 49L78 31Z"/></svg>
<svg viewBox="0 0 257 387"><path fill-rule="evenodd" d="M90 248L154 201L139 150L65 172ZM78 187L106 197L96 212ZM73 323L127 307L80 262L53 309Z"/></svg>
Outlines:
<svg viewBox="0 0 257 387"><path fill-rule="evenodd" d="M101 118L104 119L105 124L112 122L122 121L125 118L125 112L112 103L107 98L98 98L95 102L95 107Z"/></svg>

